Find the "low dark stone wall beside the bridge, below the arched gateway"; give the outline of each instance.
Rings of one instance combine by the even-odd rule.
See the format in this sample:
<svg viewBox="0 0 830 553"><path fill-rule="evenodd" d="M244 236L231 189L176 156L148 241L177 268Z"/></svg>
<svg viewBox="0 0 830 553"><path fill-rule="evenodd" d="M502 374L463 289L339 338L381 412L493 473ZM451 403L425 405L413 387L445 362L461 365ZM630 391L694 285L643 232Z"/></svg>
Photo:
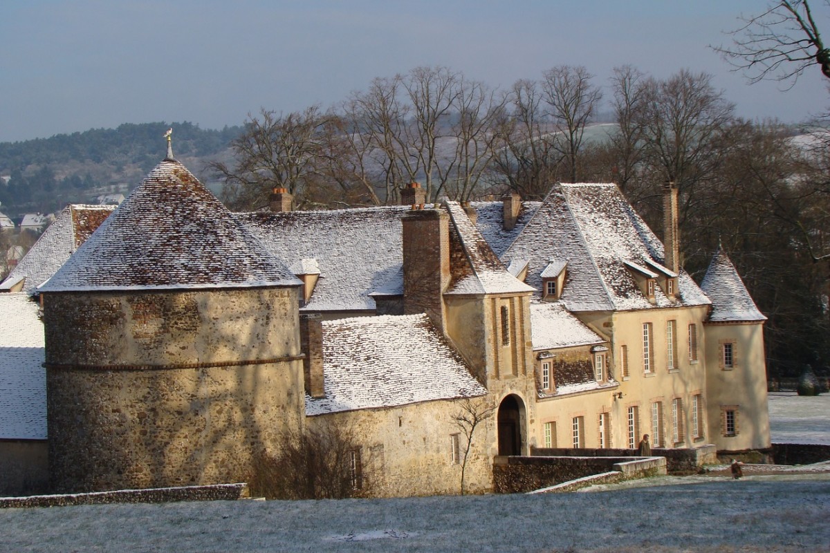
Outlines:
<svg viewBox="0 0 830 553"><path fill-rule="evenodd" d="M493 489L496 493L531 492L606 473L618 473L623 480L666 474L666 459L538 455L496 457L493 464Z"/></svg>

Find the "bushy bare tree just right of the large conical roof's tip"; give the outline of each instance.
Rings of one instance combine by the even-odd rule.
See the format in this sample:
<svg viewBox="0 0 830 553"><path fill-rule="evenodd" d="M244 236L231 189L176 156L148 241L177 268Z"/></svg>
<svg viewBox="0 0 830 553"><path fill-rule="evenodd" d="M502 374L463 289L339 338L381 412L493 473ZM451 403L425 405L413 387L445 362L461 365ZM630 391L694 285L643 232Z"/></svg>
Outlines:
<svg viewBox="0 0 830 553"><path fill-rule="evenodd" d="M325 120L316 105L287 115L266 109L258 118L248 114L245 132L231 143L235 166L210 166L225 180L223 200L233 209L256 209L267 205L272 188L298 196L315 172Z"/></svg>

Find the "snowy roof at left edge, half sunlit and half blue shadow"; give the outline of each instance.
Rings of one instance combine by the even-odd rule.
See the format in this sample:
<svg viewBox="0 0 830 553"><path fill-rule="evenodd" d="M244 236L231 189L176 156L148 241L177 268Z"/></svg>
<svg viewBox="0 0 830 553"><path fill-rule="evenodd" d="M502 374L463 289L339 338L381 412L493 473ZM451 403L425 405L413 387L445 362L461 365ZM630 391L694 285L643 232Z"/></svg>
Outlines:
<svg viewBox="0 0 830 553"><path fill-rule="evenodd" d="M0 293L0 439L46 439L43 323L26 293Z"/></svg>

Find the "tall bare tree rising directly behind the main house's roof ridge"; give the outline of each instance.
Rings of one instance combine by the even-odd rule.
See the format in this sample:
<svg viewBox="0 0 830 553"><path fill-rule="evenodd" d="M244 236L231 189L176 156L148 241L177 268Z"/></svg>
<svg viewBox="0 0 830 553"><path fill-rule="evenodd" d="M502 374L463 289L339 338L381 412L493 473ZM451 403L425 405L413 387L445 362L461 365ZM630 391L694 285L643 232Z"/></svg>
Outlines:
<svg viewBox="0 0 830 553"><path fill-rule="evenodd" d="M569 163L570 182L577 182L579 149L585 127L593 119L602 90L591 85L593 75L583 66L558 65L544 72L542 91L549 115L561 129L555 136L554 148Z"/></svg>

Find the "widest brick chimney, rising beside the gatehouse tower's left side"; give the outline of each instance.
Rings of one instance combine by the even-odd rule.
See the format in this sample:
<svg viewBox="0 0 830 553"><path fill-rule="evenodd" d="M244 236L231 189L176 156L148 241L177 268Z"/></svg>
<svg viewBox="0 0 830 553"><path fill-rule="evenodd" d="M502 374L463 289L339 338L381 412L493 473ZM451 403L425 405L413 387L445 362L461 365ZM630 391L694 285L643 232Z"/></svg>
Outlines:
<svg viewBox="0 0 830 553"><path fill-rule="evenodd" d="M443 293L450 284L450 224L443 210L409 211L403 226L403 314L427 313L446 332Z"/></svg>

